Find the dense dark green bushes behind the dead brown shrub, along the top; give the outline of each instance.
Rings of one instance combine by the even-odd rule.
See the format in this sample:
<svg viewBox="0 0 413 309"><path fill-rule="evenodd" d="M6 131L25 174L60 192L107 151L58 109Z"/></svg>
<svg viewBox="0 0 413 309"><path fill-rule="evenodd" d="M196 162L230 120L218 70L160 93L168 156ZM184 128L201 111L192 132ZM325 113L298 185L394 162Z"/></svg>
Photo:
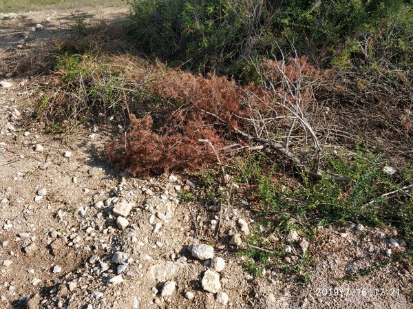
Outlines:
<svg viewBox="0 0 413 309"><path fill-rule="evenodd" d="M409 0L136 0L136 43L200 72L254 80L251 58L293 43L324 65L411 70Z"/></svg>

